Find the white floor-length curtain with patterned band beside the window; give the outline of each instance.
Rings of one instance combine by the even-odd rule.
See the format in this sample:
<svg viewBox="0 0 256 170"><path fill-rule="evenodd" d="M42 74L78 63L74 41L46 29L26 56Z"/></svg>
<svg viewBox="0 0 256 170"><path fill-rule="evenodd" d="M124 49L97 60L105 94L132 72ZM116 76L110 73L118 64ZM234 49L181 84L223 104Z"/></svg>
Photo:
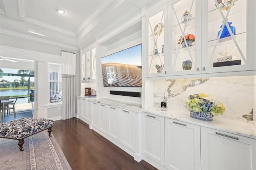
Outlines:
<svg viewBox="0 0 256 170"><path fill-rule="evenodd" d="M62 120L76 117L76 54L62 51Z"/></svg>

